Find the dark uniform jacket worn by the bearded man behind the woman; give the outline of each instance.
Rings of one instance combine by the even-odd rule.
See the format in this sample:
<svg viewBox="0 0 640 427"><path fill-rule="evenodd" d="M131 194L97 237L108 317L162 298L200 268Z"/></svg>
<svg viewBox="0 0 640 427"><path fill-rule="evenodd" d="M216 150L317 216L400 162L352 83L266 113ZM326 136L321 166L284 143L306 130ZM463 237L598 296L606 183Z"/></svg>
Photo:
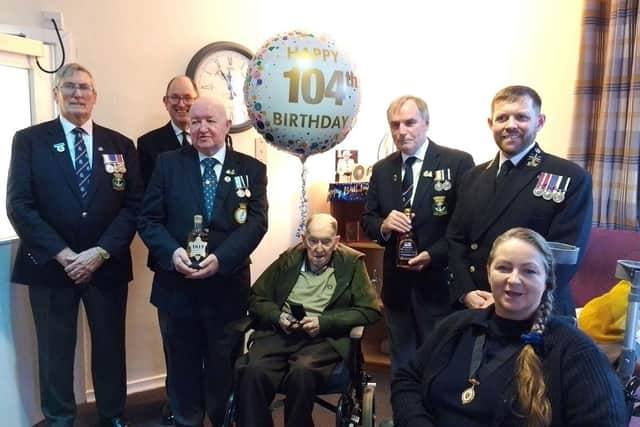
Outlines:
<svg viewBox="0 0 640 427"><path fill-rule="evenodd" d="M534 155L538 160L532 162ZM498 160L496 156L476 166L463 178L460 209L447 231L454 300L474 289L489 290L486 263L491 245L510 228L527 227L548 241L578 246L580 258L589 239L593 196L591 176L584 169L543 152L536 144L510 172L501 193L495 194ZM556 203L533 195L542 172L571 178L564 201ZM554 311L558 314L575 316L569 281L577 266L556 268Z"/></svg>

